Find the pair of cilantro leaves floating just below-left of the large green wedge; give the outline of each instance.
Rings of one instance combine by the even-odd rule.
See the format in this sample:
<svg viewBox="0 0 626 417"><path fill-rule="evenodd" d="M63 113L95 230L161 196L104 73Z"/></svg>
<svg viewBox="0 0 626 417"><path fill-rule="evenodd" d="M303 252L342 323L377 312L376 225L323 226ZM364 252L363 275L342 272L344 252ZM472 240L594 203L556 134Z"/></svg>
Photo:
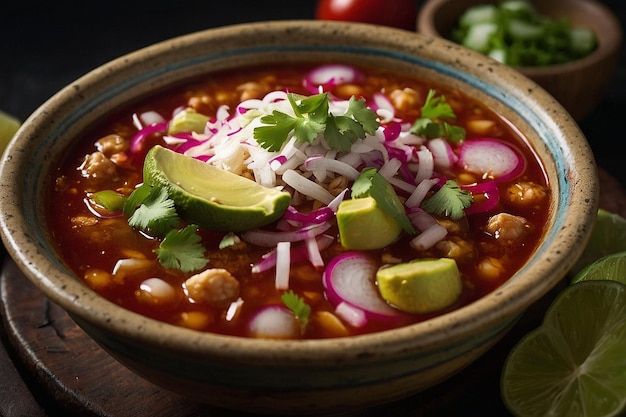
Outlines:
<svg viewBox="0 0 626 417"><path fill-rule="evenodd" d="M163 238L154 252L164 267L191 272L208 263L198 227L187 225L180 229L182 221L164 187L140 185L126 199L123 211L130 226Z"/></svg>

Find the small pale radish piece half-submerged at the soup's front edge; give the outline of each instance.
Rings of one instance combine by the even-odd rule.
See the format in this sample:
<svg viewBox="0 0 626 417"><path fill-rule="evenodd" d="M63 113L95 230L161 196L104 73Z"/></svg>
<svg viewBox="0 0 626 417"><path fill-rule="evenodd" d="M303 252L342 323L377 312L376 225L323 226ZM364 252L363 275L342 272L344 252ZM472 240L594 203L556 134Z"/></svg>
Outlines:
<svg viewBox="0 0 626 417"><path fill-rule="evenodd" d="M299 339L300 325L286 307L271 305L252 317L248 324L248 332L252 337L266 339Z"/></svg>

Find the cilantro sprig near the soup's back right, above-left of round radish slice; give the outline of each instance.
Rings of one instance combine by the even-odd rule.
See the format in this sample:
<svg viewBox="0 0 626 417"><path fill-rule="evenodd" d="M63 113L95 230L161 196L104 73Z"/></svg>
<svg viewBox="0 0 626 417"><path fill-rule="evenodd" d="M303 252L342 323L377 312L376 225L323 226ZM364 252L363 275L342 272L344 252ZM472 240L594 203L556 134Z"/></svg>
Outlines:
<svg viewBox="0 0 626 417"><path fill-rule="evenodd" d="M431 89L422 106L420 117L411 127L411 132L429 139L443 137L457 143L465 139L465 129L449 124L446 119L454 120L456 114L446 97L436 96L436 91Z"/></svg>

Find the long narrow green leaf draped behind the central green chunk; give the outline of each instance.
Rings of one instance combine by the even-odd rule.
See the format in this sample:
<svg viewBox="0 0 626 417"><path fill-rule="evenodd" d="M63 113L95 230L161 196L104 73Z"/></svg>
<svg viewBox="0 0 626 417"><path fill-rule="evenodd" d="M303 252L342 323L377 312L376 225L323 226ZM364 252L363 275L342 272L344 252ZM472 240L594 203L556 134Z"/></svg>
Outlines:
<svg viewBox="0 0 626 417"><path fill-rule="evenodd" d="M406 215L404 204L398 198L389 182L380 175L376 168L365 168L352 184L352 198L370 196L388 216L393 218L409 234L415 234L415 228Z"/></svg>

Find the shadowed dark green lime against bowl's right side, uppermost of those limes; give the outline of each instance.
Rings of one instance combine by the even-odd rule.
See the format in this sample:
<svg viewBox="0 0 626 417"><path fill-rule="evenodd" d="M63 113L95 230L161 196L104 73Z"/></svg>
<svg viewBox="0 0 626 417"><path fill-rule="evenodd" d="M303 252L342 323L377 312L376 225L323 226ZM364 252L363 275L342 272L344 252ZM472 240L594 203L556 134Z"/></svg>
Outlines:
<svg viewBox="0 0 626 417"><path fill-rule="evenodd" d="M599 209L587 246L570 273L577 274L598 259L622 251L626 251L626 219Z"/></svg>

